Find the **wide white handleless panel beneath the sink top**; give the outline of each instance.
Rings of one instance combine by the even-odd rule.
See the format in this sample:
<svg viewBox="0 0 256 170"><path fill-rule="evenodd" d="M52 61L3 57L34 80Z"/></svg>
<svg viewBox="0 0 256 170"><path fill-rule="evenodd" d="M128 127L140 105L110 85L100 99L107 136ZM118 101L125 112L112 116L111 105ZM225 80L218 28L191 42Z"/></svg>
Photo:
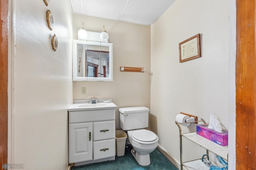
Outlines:
<svg viewBox="0 0 256 170"><path fill-rule="evenodd" d="M115 109L71 111L68 116L69 123L115 120Z"/></svg>

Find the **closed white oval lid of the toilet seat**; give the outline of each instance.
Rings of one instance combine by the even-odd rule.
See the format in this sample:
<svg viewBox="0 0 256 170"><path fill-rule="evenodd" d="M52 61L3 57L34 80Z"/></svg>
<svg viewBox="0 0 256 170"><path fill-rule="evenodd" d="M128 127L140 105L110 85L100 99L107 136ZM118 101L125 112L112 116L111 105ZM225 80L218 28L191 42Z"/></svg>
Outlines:
<svg viewBox="0 0 256 170"><path fill-rule="evenodd" d="M132 137L143 142L152 142L157 139L157 136L154 134L154 132L146 129L134 130L132 132Z"/></svg>

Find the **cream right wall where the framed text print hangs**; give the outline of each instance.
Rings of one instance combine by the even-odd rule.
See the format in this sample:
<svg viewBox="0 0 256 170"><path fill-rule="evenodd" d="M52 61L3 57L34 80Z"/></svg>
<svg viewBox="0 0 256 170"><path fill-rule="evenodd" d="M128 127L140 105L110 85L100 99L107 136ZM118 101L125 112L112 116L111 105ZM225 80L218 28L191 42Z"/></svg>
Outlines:
<svg viewBox="0 0 256 170"><path fill-rule="evenodd" d="M202 57L179 63L178 44L198 33ZM178 163L177 114L209 122L212 113L228 128L228 48L228 1L177 0L151 27L151 130ZM186 158L202 156L185 147Z"/></svg>

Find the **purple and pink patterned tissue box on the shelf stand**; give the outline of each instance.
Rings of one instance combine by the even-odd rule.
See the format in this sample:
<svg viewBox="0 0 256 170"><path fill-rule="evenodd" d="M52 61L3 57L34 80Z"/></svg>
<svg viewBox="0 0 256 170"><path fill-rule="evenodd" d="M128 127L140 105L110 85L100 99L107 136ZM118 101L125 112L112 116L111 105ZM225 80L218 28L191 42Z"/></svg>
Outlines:
<svg viewBox="0 0 256 170"><path fill-rule="evenodd" d="M196 125L196 133L203 136L206 139L212 140L221 146L228 145L228 131L216 132L208 128L208 124Z"/></svg>

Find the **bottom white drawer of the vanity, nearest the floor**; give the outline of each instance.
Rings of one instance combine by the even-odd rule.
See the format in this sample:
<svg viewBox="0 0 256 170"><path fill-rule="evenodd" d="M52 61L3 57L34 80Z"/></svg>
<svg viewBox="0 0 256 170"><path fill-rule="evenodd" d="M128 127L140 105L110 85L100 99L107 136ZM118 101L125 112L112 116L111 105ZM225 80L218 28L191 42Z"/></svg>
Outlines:
<svg viewBox="0 0 256 170"><path fill-rule="evenodd" d="M116 140L99 140L93 142L93 159L107 158L116 155Z"/></svg>

